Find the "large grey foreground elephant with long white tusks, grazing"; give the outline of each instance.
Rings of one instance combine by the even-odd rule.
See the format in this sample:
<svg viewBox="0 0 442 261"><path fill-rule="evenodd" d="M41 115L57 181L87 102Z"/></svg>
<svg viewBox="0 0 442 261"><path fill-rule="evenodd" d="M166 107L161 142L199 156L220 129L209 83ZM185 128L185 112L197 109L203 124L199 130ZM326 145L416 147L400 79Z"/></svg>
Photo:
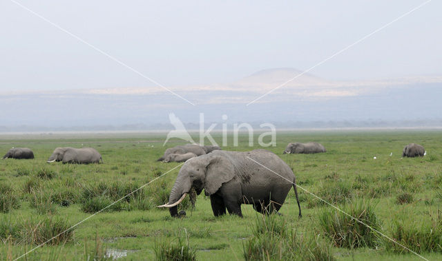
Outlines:
<svg viewBox="0 0 442 261"><path fill-rule="evenodd" d="M171 216L179 216L177 205L194 188L198 195L204 189L204 194L210 196L215 216L224 215L227 208L230 214L242 217L241 204L251 204L260 213L270 213L280 209L291 187L301 216L295 175L278 156L265 149L215 150L187 160L175 180L169 202L158 207L169 207Z"/></svg>

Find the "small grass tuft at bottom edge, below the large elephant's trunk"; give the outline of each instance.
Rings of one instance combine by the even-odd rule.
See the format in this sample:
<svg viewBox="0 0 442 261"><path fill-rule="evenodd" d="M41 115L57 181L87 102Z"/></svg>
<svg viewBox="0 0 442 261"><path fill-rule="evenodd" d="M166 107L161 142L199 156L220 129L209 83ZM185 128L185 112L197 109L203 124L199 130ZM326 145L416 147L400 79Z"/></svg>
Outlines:
<svg viewBox="0 0 442 261"><path fill-rule="evenodd" d="M160 242L155 243L155 259L160 261L169 260L196 260L196 249L189 246L189 240L186 238L186 242L178 236L174 242Z"/></svg>

